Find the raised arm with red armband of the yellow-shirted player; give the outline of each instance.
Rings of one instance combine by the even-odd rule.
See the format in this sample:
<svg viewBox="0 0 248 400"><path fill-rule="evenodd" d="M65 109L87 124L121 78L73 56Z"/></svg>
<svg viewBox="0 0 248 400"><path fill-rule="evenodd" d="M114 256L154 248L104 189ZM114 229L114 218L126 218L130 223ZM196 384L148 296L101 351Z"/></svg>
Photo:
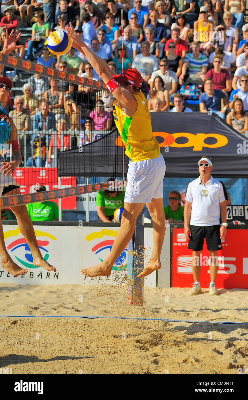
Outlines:
<svg viewBox="0 0 248 400"><path fill-rule="evenodd" d="M71 23L70 26L66 26L65 29L71 36L73 47L76 47L85 56L105 84L109 84L108 86L110 86L110 84L112 85L110 92L120 101L120 105L125 108L124 113L128 116L134 114L137 109L137 102L127 89L114 83L112 76L116 75L115 72L109 68L108 64L102 60L102 58L94 54L81 38L79 38ZM112 82L110 82L111 80Z"/></svg>

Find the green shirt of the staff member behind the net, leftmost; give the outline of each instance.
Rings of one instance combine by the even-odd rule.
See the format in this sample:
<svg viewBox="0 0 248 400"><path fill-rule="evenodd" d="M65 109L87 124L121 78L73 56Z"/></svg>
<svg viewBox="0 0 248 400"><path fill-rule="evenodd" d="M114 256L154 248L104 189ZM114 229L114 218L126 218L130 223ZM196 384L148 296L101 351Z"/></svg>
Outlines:
<svg viewBox="0 0 248 400"><path fill-rule="evenodd" d="M27 204L31 221L53 221L59 218L59 207L53 201Z"/></svg>

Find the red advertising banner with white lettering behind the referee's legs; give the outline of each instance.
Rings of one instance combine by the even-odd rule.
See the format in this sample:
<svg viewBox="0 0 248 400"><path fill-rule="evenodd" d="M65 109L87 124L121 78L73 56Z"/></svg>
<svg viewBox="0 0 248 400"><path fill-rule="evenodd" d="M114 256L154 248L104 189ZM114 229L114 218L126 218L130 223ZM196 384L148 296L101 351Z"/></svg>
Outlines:
<svg viewBox="0 0 248 400"><path fill-rule="evenodd" d="M227 229L222 242L222 250L218 251L219 269L217 288L248 289L248 251L247 229ZM192 250L187 248L188 240L184 229L172 230L172 286L190 288L193 283ZM204 242L201 258L201 287L208 288L210 282L208 266L208 250Z"/></svg>

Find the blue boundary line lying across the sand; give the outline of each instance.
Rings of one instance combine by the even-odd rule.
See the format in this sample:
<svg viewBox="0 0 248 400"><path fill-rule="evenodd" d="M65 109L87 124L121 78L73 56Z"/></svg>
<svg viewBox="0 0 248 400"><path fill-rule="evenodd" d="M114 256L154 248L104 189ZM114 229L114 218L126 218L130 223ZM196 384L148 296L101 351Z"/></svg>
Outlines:
<svg viewBox="0 0 248 400"><path fill-rule="evenodd" d="M112 316L106 316L106 317L93 317L93 316L67 316L67 315L0 315L0 317L14 317L14 318L89 318L89 319L95 319L95 318L116 318L116 319L121 319L121 320L142 320L142 321L165 321L165 322L189 322L189 323L202 323L202 322L211 322L211 324L247 324L248 322L226 322L226 321L190 321L190 320L165 320L165 319L159 319L159 318L136 318L136 317L112 317Z"/></svg>

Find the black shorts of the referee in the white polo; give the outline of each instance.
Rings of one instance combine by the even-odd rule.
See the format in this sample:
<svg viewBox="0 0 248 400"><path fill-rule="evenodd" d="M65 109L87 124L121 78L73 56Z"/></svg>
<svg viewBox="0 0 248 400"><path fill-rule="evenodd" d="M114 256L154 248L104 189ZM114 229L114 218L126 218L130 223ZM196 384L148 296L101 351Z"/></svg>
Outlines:
<svg viewBox="0 0 248 400"><path fill-rule="evenodd" d="M206 238L207 249L209 251L221 250L220 225L195 226L189 225L191 236L189 236L188 249L201 251L203 249L204 238Z"/></svg>

